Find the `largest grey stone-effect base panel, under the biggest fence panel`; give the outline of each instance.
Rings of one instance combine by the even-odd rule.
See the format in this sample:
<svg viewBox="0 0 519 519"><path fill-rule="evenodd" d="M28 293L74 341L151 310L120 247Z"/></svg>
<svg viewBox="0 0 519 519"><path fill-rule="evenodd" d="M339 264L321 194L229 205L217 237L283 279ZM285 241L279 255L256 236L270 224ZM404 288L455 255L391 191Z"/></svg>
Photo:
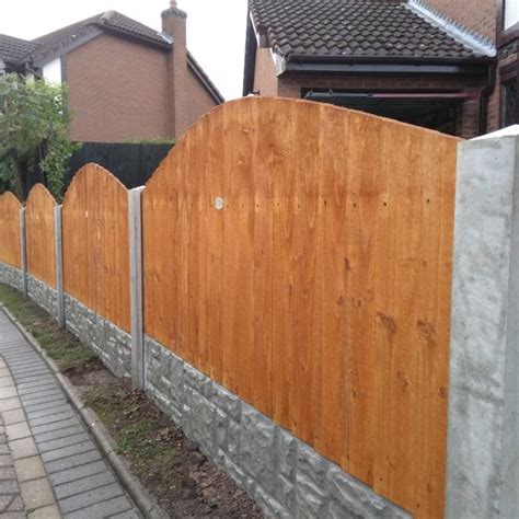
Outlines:
<svg viewBox="0 0 519 519"><path fill-rule="evenodd" d="M148 395L267 517L411 517L149 337L145 366Z"/></svg>

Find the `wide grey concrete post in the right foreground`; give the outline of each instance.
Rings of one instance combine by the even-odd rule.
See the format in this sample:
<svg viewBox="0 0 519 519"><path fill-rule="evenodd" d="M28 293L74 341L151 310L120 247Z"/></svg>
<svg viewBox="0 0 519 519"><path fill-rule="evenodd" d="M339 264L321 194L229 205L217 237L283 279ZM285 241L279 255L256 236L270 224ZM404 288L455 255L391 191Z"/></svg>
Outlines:
<svg viewBox="0 0 519 519"><path fill-rule="evenodd" d="M459 148L446 517L519 510L519 126Z"/></svg>

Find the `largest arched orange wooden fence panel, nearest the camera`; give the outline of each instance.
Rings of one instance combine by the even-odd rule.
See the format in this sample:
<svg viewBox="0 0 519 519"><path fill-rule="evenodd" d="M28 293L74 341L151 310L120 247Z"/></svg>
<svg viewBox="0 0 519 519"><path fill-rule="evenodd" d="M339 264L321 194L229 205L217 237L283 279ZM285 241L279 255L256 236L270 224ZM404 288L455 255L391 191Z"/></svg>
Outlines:
<svg viewBox="0 0 519 519"><path fill-rule="evenodd" d="M424 518L445 500L457 145L246 99L143 192L146 332Z"/></svg>

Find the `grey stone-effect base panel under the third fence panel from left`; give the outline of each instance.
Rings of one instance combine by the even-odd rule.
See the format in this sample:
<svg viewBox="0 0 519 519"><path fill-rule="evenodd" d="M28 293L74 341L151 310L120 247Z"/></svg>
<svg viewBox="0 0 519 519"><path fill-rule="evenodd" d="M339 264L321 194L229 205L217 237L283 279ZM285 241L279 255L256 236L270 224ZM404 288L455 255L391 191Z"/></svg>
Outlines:
<svg viewBox="0 0 519 519"><path fill-rule="evenodd" d="M131 337L106 319L65 295L67 328L92 348L116 377L131 376Z"/></svg>

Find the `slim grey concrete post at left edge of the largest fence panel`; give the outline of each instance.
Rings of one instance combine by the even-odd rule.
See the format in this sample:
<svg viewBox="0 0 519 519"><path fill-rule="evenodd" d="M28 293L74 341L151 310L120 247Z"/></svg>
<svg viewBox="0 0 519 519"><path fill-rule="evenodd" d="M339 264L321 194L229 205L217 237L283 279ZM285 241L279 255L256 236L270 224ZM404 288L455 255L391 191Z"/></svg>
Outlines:
<svg viewBox="0 0 519 519"><path fill-rule="evenodd" d="M130 303L131 303L131 381L134 389L145 388L142 323L142 216L143 187L128 192Z"/></svg>

